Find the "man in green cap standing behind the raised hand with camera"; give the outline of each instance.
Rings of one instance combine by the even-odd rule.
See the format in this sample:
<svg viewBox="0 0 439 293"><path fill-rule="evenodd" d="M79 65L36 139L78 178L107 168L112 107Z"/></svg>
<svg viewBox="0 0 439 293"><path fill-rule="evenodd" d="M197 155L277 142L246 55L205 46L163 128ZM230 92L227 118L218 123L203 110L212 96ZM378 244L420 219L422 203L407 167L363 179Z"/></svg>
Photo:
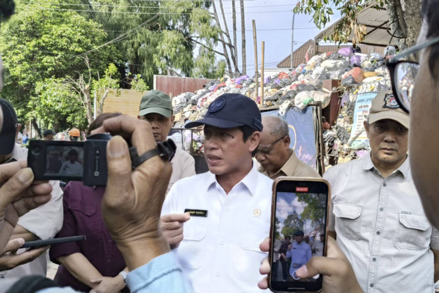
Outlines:
<svg viewBox="0 0 439 293"><path fill-rule="evenodd" d="M171 98L162 91L147 91L140 102L137 117L150 122L156 142L166 141L175 119ZM172 175L166 193L181 178L195 175L195 160L184 150L177 148L171 164Z"/></svg>

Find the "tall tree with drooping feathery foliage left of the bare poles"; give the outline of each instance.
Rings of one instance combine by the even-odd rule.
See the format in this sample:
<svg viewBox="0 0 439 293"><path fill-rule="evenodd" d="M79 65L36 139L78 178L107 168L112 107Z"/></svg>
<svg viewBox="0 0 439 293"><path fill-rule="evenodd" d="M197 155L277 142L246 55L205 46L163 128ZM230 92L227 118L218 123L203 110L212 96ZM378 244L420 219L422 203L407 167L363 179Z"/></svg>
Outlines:
<svg viewBox="0 0 439 293"><path fill-rule="evenodd" d="M191 76L195 47L213 51L220 33L209 14L210 0L66 2L62 8L87 5L84 16L104 26L108 42L123 55L123 61L117 64L122 80L128 74L141 74L152 85L154 74L169 69ZM201 57L199 54L197 58ZM210 67L215 69L215 62ZM129 88L130 84L122 86Z"/></svg>

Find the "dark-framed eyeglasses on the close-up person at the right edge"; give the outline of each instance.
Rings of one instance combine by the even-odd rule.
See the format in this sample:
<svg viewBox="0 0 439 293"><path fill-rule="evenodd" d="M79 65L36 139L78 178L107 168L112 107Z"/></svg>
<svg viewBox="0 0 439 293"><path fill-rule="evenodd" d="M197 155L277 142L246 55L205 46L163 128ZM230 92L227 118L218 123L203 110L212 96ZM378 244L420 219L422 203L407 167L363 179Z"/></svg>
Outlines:
<svg viewBox="0 0 439 293"><path fill-rule="evenodd" d="M392 90L396 97L396 102L399 106L410 112L410 102L412 101L412 93L414 89L414 83L416 81L416 75L418 74L419 64L411 60L401 60L403 58L410 58L411 55L416 52L439 43L439 37L432 38L431 40L410 47L400 54L390 58L387 62L387 67L390 71L390 79L392 80Z"/></svg>

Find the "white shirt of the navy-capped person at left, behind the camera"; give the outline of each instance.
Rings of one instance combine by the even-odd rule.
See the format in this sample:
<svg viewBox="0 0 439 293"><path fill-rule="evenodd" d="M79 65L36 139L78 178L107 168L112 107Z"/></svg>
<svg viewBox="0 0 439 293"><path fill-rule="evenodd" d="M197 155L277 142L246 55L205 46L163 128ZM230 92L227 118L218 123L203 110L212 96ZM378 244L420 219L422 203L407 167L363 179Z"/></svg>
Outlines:
<svg viewBox="0 0 439 293"><path fill-rule="evenodd" d="M19 160L27 159L27 149L21 148L20 145L15 145L12 152L12 158ZM56 233L62 227L62 189L59 181L49 181L52 185L52 198L25 215L19 218L18 224L23 226L27 231L34 233L40 239L49 239L55 237ZM19 249L17 253L23 252L27 248ZM17 266L12 270L0 272L0 278L20 278L28 274L40 274L46 276L47 272L47 253L43 253L34 261Z"/></svg>

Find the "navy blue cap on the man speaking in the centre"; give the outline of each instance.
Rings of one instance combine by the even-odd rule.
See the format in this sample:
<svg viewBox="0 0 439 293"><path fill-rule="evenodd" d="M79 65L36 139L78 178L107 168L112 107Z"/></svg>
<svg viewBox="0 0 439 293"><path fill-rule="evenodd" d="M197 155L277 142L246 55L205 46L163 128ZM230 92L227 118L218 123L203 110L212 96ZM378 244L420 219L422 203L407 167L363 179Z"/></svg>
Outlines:
<svg viewBox="0 0 439 293"><path fill-rule="evenodd" d="M224 93L209 105L203 119L189 122L185 128L210 125L218 128L249 126L262 131L261 112L257 104L239 93Z"/></svg>

